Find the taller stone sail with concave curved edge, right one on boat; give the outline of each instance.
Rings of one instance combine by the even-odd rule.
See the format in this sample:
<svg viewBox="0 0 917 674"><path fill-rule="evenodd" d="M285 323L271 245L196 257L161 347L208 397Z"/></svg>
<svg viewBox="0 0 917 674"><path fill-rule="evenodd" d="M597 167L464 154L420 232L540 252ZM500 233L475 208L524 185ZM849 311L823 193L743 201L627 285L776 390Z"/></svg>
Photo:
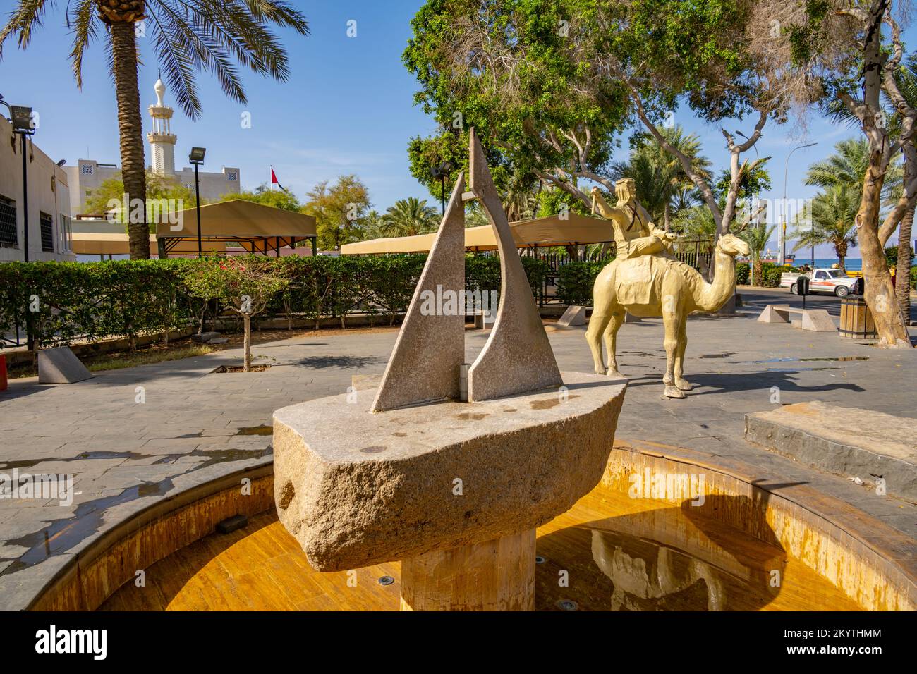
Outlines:
<svg viewBox="0 0 917 674"><path fill-rule="evenodd" d="M501 275L500 308L491 337L469 370L469 402L561 386L558 362L473 128L469 166L470 191L484 207L497 239Z"/></svg>

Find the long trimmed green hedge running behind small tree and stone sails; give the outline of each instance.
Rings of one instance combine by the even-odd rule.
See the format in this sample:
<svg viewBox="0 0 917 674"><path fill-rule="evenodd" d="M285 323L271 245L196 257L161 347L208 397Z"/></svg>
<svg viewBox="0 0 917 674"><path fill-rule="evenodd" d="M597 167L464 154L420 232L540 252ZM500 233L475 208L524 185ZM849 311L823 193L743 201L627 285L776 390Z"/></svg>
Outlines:
<svg viewBox="0 0 917 674"><path fill-rule="evenodd" d="M323 317L348 313L384 315L391 323L403 313L425 255L381 257L288 257L275 260L290 279L264 315ZM138 337L193 325L204 301L182 283L182 272L198 260L113 260L104 262L9 262L0 264L0 333L17 324L36 344L69 344L76 339ZM547 263L523 258L533 293L540 293ZM466 258L469 290L500 290L500 259ZM30 310L34 309L34 311Z"/></svg>

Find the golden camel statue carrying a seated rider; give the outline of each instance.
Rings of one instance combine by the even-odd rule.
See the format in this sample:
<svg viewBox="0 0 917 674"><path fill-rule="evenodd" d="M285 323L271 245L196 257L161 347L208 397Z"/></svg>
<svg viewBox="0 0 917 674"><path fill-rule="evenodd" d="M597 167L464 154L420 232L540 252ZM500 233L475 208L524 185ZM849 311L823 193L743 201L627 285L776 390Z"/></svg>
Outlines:
<svg viewBox="0 0 917 674"><path fill-rule="evenodd" d="M618 206L611 208L597 190L593 191L593 196L602 215L613 221L615 240L627 237L622 225L632 222L634 217L631 214L642 211L642 206L636 204L630 211ZM618 196L620 204L622 194ZM624 197L632 197L632 194L624 193ZM693 311L718 311L726 304L735 293L735 256L748 255L748 244L732 234L720 237L713 253L713 282L708 283L685 262L661 257L658 253L668 248L666 244L670 239L661 236L665 233L653 227L652 223L645 221L641 226L642 232L631 227L638 238L632 237L627 246L639 252L613 260L595 279L586 340L592 351L595 371L622 377L618 371L615 339L618 329L624 324L624 312L645 318L661 316L666 329L664 345L667 363L666 375L662 379L666 385L664 395L667 398L684 398L684 392L691 391L691 383L684 379L682 367L688 345L688 315ZM601 337L604 337L608 352L607 370L602 360Z"/></svg>

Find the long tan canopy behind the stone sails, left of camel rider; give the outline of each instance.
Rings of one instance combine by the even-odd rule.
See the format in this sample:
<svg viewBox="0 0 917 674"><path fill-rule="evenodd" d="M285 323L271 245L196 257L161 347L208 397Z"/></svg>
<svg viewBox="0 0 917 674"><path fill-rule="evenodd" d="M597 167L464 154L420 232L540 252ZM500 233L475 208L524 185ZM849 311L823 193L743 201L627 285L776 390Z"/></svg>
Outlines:
<svg viewBox="0 0 917 674"><path fill-rule="evenodd" d="M612 223L599 217L570 213L566 218L547 215L534 220L510 223L517 248L550 246L580 246L614 240ZM414 237L373 238L341 246L343 255L378 255L381 253L422 253L429 251L436 233ZM465 249L494 250L497 248L490 225L465 230Z"/></svg>

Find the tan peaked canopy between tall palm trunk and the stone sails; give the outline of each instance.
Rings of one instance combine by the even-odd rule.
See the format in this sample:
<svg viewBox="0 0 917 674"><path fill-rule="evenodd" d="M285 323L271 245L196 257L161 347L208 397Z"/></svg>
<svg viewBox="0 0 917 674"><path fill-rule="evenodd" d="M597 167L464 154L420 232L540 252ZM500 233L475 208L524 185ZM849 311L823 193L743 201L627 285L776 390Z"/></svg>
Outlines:
<svg viewBox="0 0 917 674"><path fill-rule="evenodd" d="M178 213L178 223L156 226L161 249L169 253L193 244L197 249L197 209ZM174 229L173 229L174 227ZM201 239L210 242L236 242L252 253L274 254L284 246L312 239L315 251L315 217L236 199L201 206ZM160 252L162 252L160 250Z"/></svg>

